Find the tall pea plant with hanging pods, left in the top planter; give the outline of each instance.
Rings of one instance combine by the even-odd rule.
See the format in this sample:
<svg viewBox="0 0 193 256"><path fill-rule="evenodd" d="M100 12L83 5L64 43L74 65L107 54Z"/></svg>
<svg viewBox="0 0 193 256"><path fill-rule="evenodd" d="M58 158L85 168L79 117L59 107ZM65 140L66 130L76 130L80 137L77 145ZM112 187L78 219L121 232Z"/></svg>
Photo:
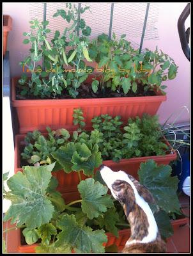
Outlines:
<svg viewBox="0 0 193 256"><path fill-rule="evenodd" d="M81 13L89 10L89 6L81 8ZM55 31L54 38L51 43L47 40L47 33L50 29L46 28L49 21L39 22L32 20L32 32L24 33L27 39L24 39L24 44L31 44L30 56L24 58L20 62L22 67L27 67L31 71L31 79L27 79L26 74L23 74L19 80L20 95L34 95L40 97L56 97L63 92L69 94L70 97L77 97L77 88L88 77L86 71L85 59L91 61L88 54L88 36L91 34L91 28L86 26L84 19L78 17L78 10L75 4L66 3L66 11L58 10L53 17L61 16L71 26L66 27L63 35L59 31ZM82 33L82 36L77 35L77 30ZM67 51L67 47L71 48ZM43 70L40 65L43 65L46 70ZM38 66L36 67L36 63ZM68 70L64 70L66 65ZM75 68L72 68L75 67ZM71 69L70 69L71 67ZM93 68L88 67L89 70ZM73 72L72 72L73 71Z"/></svg>

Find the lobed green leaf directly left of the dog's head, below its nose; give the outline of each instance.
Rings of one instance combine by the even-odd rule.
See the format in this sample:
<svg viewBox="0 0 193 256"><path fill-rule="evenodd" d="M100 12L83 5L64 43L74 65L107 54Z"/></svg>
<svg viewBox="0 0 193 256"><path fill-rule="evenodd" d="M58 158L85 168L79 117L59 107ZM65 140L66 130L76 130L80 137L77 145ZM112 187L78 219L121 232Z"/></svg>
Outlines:
<svg viewBox="0 0 193 256"><path fill-rule="evenodd" d="M78 185L82 198L82 212L86 213L89 220L97 218L107 208L113 206L110 195L106 195L108 188L92 178L82 180Z"/></svg>

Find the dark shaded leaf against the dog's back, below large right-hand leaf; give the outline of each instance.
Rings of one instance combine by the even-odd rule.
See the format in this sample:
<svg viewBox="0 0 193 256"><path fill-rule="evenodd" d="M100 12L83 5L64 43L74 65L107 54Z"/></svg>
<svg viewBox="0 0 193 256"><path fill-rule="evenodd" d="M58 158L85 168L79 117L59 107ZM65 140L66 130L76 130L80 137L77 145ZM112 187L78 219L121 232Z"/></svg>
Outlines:
<svg viewBox="0 0 193 256"><path fill-rule="evenodd" d="M173 227L167 213L160 210L158 212L155 212L154 217L155 221L157 222L158 230L161 236L164 238L173 236Z"/></svg>

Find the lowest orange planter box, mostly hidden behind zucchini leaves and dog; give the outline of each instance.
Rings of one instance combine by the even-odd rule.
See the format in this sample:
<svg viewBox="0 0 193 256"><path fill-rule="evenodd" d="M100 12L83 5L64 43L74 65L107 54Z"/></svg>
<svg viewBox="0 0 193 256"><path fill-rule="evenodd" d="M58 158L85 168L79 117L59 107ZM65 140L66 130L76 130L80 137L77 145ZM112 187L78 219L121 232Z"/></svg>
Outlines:
<svg viewBox="0 0 193 256"><path fill-rule="evenodd" d="M171 224L173 225L174 234L180 233L181 226L186 225L188 221L189 221L189 218L172 220ZM14 225L10 225L10 221L4 224L4 228L10 228L10 227L14 227ZM6 236L4 237L4 239L6 240L7 252L8 253L14 253L14 252L15 253L35 253L35 248L36 246L38 246L38 244L36 243L32 245L22 245L20 233L21 233L20 229L17 229L17 230L10 230L8 233L4 235ZM104 244L104 246L110 246L112 244L116 244L118 246L118 251L121 252L121 250L123 250L123 247L125 246L125 243L130 237L130 229L123 229L123 230L120 230L118 233L119 233L119 237L115 237L111 233L106 233L108 237L108 241L107 241L107 244ZM169 247L169 241L170 239L173 238L173 236L167 239L167 248ZM187 237L187 239L189 238Z"/></svg>

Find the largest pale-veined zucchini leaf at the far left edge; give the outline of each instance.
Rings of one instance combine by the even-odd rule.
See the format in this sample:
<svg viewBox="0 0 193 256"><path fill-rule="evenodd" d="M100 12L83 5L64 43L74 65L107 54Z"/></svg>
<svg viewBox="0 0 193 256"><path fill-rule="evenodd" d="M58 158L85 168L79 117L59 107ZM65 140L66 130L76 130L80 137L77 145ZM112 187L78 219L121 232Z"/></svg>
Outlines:
<svg viewBox="0 0 193 256"><path fill-rule="evenodd" d="M5 214L5 221L12 218L12 223L18 227L25 223L31 229L50 221L54 207L46 196L46 189L54 165L24 166L23 173L18 172L7 181L10 192L5 198L10 198L12 205Z"/></svg>

